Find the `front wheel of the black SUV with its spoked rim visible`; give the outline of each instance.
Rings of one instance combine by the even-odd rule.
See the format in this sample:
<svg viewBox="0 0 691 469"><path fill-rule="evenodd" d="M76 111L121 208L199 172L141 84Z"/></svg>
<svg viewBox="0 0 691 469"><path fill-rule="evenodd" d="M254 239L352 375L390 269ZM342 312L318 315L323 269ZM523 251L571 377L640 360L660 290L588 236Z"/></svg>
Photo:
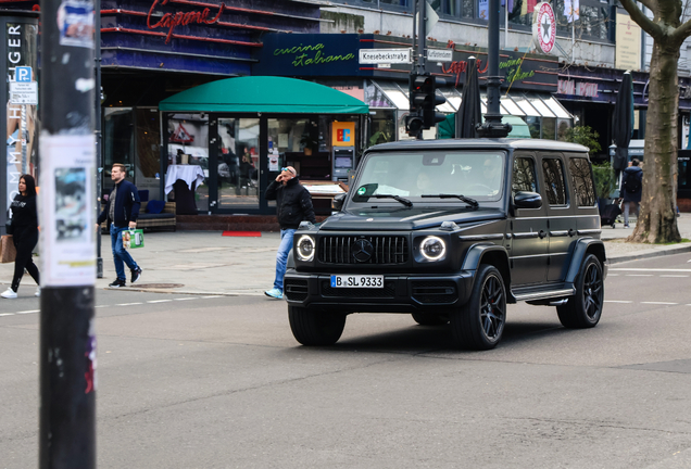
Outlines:
<svg viewBox="0 0 691 469"><path fill-rule="evenodd" d="M466 350L494 348L506 321L506 289L497 267L480 265L470 299L451 314L454 346Z"/></svg>

